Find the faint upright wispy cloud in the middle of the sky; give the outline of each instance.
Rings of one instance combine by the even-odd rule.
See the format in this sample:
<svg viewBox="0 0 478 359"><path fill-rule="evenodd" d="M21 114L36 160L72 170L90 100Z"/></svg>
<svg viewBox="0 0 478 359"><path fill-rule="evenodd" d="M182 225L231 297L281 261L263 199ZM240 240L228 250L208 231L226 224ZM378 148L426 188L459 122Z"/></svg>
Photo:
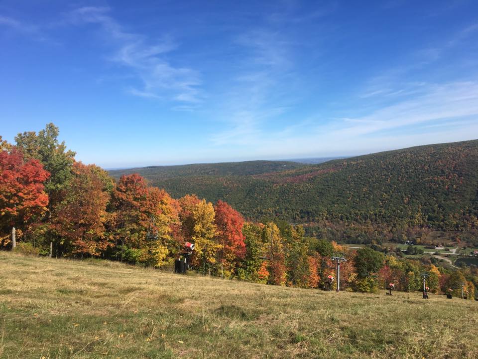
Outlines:
<svg viewBox="0 0 478 359"><path fill-rule="evenodd" d="M291 101L281 85L293 68L287 36L267 27L254 28L239 34L234 43L243 56L216 112L216 118L227 119L228 128L211 136L214 146L253 141L265 123L288 110Z"/></svg>

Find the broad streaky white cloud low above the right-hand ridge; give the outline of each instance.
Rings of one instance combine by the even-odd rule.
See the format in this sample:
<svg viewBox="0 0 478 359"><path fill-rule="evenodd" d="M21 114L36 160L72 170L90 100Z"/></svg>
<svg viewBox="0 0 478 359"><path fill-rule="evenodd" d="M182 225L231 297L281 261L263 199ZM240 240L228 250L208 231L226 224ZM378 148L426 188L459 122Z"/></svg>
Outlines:
<svg viewBox="0 0 478 359"><path fill-rule="evenodd" d="M245 158L258 159L355 155L478 137L477 81L421 87L416 96L399 98L361 117L350 108L342 110L349 115L345 118L317 115L285 129L263 131L251 127L249 120L244 127L222 133L215 144L244 146Z"/></svg>

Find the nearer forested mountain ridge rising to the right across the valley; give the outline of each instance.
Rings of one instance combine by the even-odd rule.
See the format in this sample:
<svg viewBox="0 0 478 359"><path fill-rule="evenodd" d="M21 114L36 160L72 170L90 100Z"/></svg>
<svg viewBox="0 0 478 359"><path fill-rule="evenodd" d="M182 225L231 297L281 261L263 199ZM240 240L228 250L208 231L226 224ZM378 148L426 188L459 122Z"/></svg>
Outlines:
<svg viewBox="0 0 478 359"><path fill-rule="evenodd" d="M327 221L388 229L425 226L468 231L478 227L478 140L247 176L161 179L140 174L175 197L196 193L210 201L222 199L252 219L273 216L295 223Z"/></svg>

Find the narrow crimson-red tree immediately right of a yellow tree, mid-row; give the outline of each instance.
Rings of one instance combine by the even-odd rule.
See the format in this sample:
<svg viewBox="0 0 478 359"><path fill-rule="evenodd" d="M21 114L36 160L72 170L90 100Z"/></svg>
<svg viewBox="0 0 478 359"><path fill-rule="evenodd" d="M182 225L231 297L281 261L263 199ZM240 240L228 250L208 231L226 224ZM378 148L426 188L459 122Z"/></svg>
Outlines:
<svg viewBox="0 0 478 359"><path fill-rule="evenodd" d="M217 241L221 245L218 250L218 262L229 273L233 273L238 259L245 255L245 236L242 234L244 218L228 203L219 200L214 207L216 212Z"/></svg>

